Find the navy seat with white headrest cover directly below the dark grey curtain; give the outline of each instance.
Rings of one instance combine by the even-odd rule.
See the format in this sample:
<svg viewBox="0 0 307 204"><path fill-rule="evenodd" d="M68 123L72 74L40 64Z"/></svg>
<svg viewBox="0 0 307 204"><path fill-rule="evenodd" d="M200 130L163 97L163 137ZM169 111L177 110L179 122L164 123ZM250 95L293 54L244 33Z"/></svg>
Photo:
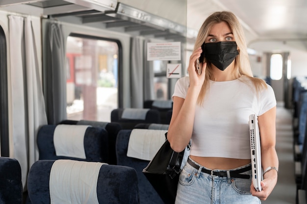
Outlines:
<svg viewBox="0 0 307 204"><path fill-rule="evenodd" d="M38 131L37 146L40 160L73 159L96 162L108 162L109 160L108 133L104 128L45 125ZM59 152L61 150L62 152Z"/></svg>

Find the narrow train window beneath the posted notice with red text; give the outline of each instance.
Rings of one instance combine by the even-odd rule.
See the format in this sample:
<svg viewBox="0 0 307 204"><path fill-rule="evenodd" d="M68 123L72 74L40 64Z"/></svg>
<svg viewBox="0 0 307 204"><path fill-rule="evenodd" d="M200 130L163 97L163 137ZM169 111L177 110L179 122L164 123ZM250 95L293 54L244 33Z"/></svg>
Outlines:
<svg viewBox="0 0 307 204"><path fill-rule="evenodd" d="M166 62L153 61L154 100L168 100L168 79L166 77Z"/></svg>

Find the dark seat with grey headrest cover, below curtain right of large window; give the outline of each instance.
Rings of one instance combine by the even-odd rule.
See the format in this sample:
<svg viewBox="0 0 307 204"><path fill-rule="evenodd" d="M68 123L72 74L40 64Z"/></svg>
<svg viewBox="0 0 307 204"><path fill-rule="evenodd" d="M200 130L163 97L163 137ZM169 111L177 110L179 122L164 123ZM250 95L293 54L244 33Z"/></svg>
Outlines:
<svg viewBox="0 0 307 204"><path fill-rule="evenodd" d="M111 112L111 122L123 129L133 129L139 123L161 123L160 112L149 108L117 108Z"/></svg>

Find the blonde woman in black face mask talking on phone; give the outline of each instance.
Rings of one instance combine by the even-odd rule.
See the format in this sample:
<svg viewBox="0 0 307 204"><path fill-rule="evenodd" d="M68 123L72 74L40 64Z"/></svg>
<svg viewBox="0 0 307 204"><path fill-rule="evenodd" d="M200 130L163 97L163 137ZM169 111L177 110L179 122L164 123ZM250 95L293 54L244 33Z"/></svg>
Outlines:
<svg viewBox="0 0 307 204"><path fill-rule="evenodd" d="M201 53L205 58L199 74L196 62ZM168 130L168 140L176 152L192 139L176 203L261 203L277 182L276 99L269 85L253 77L243 29L231 12L215 12L205 20L188 73L176 83ZM251 178L250 114L258 116L262 168L267 169L260 192ZM208 174L211 170L224 173ZM240 174L234 174L237 172Z"/></svg>

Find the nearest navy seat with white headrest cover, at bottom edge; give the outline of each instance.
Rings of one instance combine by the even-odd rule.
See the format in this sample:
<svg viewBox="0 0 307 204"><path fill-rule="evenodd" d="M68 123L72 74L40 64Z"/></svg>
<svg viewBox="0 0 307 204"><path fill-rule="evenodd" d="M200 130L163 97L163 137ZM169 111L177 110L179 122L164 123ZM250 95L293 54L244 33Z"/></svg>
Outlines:
<svg viewBox="0 0 307 204"><path fill-rule="evenodd" d="M138 204L137 174L133 168L100 162L38 160L27 179L32 204Z"/></svg>

